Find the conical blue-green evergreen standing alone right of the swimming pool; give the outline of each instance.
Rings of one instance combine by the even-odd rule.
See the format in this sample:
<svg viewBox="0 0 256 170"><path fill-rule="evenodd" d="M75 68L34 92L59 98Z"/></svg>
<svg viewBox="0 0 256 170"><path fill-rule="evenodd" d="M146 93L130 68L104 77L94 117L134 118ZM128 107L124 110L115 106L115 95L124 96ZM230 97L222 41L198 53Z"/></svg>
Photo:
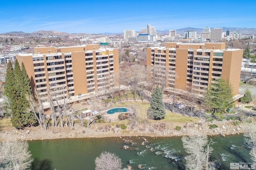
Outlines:
<svg viewBox="0 0 256 170"><path fill-rule="evenodd" d="M150 107L148 109L149 117L155 120L164 119L166 111L163 102L163 93L161 88L157 85L152 92L152 98L150 100Z"/></svg>

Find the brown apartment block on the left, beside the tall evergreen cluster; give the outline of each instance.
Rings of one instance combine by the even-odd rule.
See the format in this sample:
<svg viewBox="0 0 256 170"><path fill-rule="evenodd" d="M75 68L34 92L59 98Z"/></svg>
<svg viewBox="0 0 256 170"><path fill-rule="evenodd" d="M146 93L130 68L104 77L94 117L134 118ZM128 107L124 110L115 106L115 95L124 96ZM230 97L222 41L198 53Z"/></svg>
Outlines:
<svg viewBox="0 0 256 170"><path fill-rule="evenodd" d="M99 49L98 45L75 47L35 47L34 54L16 55L25 65L33 90L46 98L51 91L58 97L76 101L89 92L111 86L111 77L119 72L118 49ZM59 92L61 94L61 92Z"/></svg>

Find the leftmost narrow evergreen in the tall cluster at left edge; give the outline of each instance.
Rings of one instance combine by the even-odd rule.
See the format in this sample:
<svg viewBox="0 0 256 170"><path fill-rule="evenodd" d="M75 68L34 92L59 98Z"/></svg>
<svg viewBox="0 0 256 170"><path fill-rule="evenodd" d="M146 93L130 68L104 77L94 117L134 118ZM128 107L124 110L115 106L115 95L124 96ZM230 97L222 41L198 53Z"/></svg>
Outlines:
<svg viewBox="0 0 256 170"><path fill-rule="evenodd" d="M5 83L4 83L4 95L6 95L8 98L10 98L10 92L13 85L14 85L14 74L13 74L12 63L9 60L7 64Z"/></svg>

